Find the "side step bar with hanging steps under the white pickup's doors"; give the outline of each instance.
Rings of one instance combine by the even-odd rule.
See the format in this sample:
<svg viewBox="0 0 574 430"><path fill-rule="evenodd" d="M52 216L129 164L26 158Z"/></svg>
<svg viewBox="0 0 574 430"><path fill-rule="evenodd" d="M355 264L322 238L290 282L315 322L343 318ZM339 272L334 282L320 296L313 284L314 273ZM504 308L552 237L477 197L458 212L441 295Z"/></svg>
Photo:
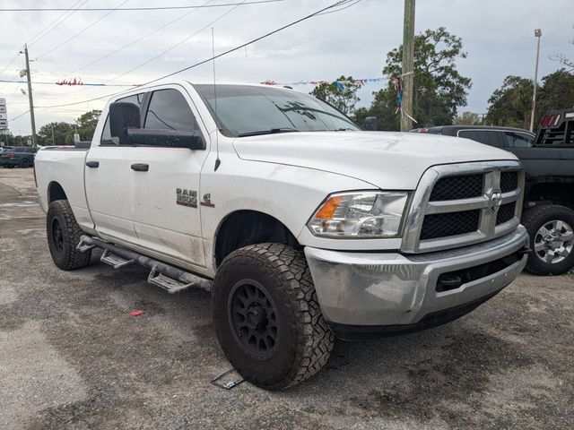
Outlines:
<svg viewBox="0 0 574 430"><path fill-rule="evenodd" d="M211 280L205 280L193 273L170 266L170 264L165 262L153 260L145 255L120 248L95 237L84 235L80 237L80 243L76 246L76 249L83 253L93 248L103 249L104 252L101 254L100 261L109 264L114 269L126 267L134 262L149 268L151 271L147 281L170 293L178 293L191 287L202 288L207 291L212 289L213 282Z"/></svg>

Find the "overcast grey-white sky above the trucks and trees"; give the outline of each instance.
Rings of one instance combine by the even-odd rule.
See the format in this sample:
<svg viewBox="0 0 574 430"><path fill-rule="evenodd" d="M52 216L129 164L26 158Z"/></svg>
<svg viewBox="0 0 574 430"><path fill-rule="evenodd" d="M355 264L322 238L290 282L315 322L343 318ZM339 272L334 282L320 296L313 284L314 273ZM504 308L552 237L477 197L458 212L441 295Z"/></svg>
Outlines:
<svg viewBox="0 0 574 430"><path fill-rule="evenodd" d="M2 0L6 8L88 8L213 5L242 0ZM248 0L249 1L249 0ZM20 80L28 42L37 128L51 121L72 122L83 112L101 108L105 99L66 107L122 90L126 87L64 87L62 79L85 83L124 85L147 82L209 58L211 29L215 53L236 47L284 24L300 19L335 0L283 0L267 4L206 7L166 11L78 10L65 12L0 11L0 80ZM402 42L402 0L361 0L337 13L306 22L259 41L217 61L218 80L242 82L308 82L334 80L341 74L354 78L381 77L387 52ZM51 25L50 25L51 24ZM444 26L463 39L466 59L459 71L472 79L468 106L461 110L486 112L492 90L505 76L533 77L534 30L543 30L539 76L559 64L551 56L574 57L572 0L418 0L415 31ZM138 40L140 39L140 40ZM186 79L212 79L205 64L179 75ZM384 82L361 89L361 106L368 106L372 91ZM297 86L302 91L312 86ZM26 85L0 82L0 98L7 99L14 134L30 133ZM12 119L15 118L15 119Z"/></svg>

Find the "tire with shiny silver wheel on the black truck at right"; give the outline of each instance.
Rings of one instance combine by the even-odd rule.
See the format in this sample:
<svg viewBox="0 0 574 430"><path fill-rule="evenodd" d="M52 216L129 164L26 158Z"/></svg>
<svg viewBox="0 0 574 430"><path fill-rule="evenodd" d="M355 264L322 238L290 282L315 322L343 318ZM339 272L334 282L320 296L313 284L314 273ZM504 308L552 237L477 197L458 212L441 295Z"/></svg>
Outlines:
<svg viewBox="0 0 574 430"><path fill-rule="evenodd" d="M574 211L556 204L535 206L526 209L522 224L532 249L526 271L561 275L574 266Z"/></svg>

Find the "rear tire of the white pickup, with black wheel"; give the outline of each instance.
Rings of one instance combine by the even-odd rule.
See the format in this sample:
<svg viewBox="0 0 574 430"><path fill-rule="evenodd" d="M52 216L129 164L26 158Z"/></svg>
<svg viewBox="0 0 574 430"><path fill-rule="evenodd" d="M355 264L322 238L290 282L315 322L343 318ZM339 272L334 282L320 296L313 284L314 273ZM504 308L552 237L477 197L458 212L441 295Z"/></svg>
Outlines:
<svg viewBox="0 0 574 430"><path fill-rule="evenodd" d="M83 231L78 226L67 200L57 200L49 204L46 232L50 254L57 267L71 271L88 265L91 251L82 253L75 248L80 243Z"/></svg>

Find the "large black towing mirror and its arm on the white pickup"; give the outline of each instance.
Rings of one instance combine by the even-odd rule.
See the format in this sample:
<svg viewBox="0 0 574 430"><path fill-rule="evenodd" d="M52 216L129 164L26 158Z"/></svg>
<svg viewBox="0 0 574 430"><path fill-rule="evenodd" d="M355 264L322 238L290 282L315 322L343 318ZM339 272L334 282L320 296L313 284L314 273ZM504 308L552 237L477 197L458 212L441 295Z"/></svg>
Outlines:
<svg viewBox="0 0 574 430"><path fill-rule="evenodd" d="M199 132L142 128L140 108L134 103L117 101L109 105L109 131L120 145L205 149L204 137Z"/></svg>

